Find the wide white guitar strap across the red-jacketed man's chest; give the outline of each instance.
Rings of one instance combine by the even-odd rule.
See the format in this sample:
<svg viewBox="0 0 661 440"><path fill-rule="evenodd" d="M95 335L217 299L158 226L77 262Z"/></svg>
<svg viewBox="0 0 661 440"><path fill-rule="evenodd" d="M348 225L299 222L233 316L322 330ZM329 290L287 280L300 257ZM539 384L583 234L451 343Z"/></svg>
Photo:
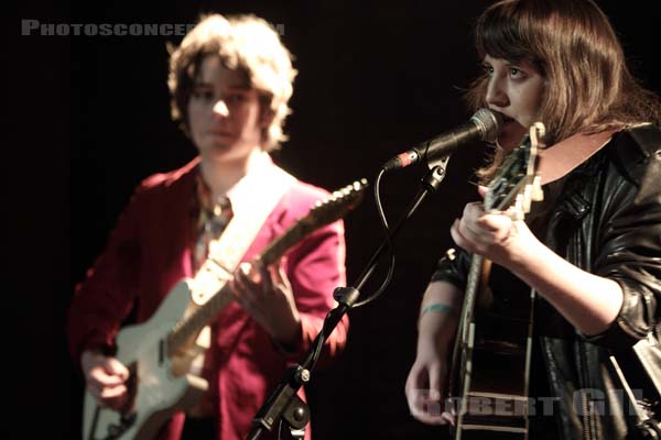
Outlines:
<svg viewBox="0 0 661 440"><path fill-rule="evenodd" d="M203 305L232 277L269 215L295 178L274 166L267 153L230 195L234 216L219 238L209 242L209 255L193 282L192 300Z"/></svg>

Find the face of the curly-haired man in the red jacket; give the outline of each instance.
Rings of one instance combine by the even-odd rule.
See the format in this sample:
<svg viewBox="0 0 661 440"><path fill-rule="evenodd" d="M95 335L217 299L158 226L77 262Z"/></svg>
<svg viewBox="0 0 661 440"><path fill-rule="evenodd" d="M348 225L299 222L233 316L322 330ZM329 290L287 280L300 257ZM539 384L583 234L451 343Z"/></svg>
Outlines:
<svg viewBox="0 0 661 440"><path fill-rule="evenodd" d="M203 160L246 160L261 148L268 116L245 72L228 69L215 55L203 59L188 99L191 135Z"/></svg>

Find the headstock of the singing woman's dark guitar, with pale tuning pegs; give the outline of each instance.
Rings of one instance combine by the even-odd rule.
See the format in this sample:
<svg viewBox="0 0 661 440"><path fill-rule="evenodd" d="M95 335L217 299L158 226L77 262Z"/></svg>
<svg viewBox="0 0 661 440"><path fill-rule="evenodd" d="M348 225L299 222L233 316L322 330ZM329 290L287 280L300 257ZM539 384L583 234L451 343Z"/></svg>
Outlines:
<svg viewBox="0 0 661 440"><path fill-rule="evenodd" d="M543 123L533 123L521 144L506 156L498 174L488 185L485 196L487 211L506 211L512 208L512 218L522 220L530 212L532 201L543 200L541 178L537 173L539 151L544 147L544 132Z"/></svg>

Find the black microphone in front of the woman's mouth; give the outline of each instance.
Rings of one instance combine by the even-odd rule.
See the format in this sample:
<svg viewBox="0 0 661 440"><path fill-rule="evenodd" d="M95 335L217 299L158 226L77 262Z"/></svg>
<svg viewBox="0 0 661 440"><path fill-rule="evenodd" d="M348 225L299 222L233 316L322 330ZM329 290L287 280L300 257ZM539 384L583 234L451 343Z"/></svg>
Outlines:
<svg viewBox="0 0 661 440"><path fill-rule="evenodd" d="M392 157L381 168L386 172L451 155L459 146L473 141L494 142L502 128L502 114L491 109L479 109L470 120L457 129L425 141Z"/></svg>

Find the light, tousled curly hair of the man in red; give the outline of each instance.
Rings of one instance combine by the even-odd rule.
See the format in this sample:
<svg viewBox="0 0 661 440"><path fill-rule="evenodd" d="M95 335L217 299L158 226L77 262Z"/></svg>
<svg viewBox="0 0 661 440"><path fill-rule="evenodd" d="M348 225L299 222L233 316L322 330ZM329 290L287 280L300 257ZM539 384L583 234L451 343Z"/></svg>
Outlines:
<svg viewBox="0 0 661 440"><path fill-rule="evenodd" d="M217 55L230 69L245 72L260 101L273 111L273 120L262 133L264 151L278 148L286 141L288 102L297 74L292 55L278 32L264 20L252 15L206 15L191 30L177 48L170 48L167 86L172 96L171 114L188 134L187 105L203 59Z"/></svg>

